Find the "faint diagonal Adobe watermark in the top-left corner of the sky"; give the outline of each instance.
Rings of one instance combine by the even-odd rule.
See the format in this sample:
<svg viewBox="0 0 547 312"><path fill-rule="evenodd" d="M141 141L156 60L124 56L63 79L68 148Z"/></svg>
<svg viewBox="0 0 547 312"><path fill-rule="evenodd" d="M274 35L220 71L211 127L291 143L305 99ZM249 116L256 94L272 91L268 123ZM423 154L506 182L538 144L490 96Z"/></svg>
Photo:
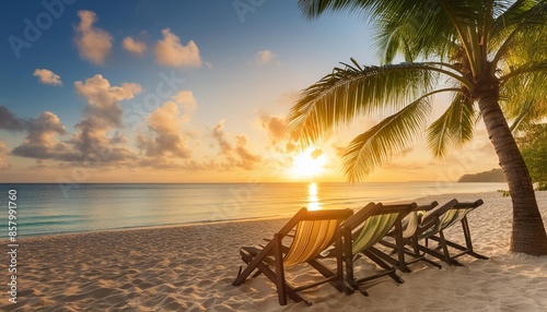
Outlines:
<svg viewBox="0 0 547 312"><path fill-rule="evenodd" d="M21 50L23 48L32 47L36 43L44 31L49 29L54 25L55 20L59 20L65 14L65 7L74 4L77 0L44 0L42 7L44 11L38 13L34 21L28 19L23 20L24 29L23 38L11 35L8 37L13 53L19 59L21 58Z"/></svg>

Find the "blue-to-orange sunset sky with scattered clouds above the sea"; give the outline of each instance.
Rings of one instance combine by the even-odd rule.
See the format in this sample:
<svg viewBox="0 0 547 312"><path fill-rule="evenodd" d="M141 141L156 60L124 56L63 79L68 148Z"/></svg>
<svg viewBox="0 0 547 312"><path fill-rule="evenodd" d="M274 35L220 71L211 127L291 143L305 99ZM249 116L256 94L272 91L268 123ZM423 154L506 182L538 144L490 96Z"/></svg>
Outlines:
<svg viewBox="0 0 547 312"><path fill-rule="evenodd" d="M379 64L374 32L348 13L306 20L296 2L0 0L0 182L346 181L344 148L386 116L305 151L284 118L339 62ZM477 125L444 159L418 141L364 181L497 164Z"/></svg>

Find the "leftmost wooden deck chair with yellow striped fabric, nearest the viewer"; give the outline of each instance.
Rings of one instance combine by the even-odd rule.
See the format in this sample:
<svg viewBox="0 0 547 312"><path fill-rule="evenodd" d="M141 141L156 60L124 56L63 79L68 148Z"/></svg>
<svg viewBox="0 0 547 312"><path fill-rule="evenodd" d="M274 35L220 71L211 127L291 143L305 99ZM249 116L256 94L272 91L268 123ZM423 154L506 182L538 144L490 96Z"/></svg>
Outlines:
<svg viewBox="0 0 547 312"><path fill-rule="evenodd" d="M240 273L232 285L241 285L251 273L258 269L276 285L281 305L287 304L288 298L294 302L304 301L311 305L311 302L304 300L298 292L329 281L338 290L349 292L344 284L341 252L338 252L336 256L337 267L335 272L323 265L316 257L333 243L341 244L340 223L352 214L351 209L300 209L264 248L243 247L240 250L242 260L247 266L243 271L240 267ZM295 229L293 236L288 237L293 229ZM288 245L283 244L284 238L291 240ZM300 287L289 285L284 278L286 268L302 263L310 264L325 278ZM271 269L270 266L274 266L275 269Z"/></svg>

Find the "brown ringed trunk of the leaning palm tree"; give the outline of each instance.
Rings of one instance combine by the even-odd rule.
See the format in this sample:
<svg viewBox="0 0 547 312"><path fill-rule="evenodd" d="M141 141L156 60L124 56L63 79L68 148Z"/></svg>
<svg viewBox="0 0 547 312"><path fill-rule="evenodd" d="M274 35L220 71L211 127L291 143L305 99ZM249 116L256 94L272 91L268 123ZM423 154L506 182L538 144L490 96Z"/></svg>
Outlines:
<svg viewBox="0 0 547 312"><path fill-rule="evenodd" d="M498 104L498 88L482 88L475 98L478 100L488 135L498 154L513 202L513 230L510 250L546 255L547 235L537 207L532 179Z"/></svg>

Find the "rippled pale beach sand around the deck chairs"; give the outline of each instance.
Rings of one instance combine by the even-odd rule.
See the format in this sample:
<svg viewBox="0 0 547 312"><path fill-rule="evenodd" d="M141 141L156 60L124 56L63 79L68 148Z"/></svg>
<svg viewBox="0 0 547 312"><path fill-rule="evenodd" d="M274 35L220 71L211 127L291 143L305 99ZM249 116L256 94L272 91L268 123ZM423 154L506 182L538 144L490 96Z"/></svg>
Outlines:
<svg viewBox="0 0 547 312"><path fill-rule="evenodd" d="M345 296L327 284L304 292L312 308L292 301L280 307L274 285L264 276L232 286L243 264L238 248L270 237L286 221L272 219L22 239L19 303L9 304L2 291L0 310L547 311L547 256L508 252L510 199L492 192L417 202L443 204L453 197L485 201L469 215L469 224L475 250L490 260L465 255L459 261L466 266L443 264L442 269L417 263L412 273L399 273L403 285L388 277L364 285L370 297ZM538 192L537 199L545 221L547 192ZM459 238L458 230L446 235ZM358 264L358 274L373 269L370 263ZM288 273L295 281L317 274L311 275L306 266Z"/></svg>

